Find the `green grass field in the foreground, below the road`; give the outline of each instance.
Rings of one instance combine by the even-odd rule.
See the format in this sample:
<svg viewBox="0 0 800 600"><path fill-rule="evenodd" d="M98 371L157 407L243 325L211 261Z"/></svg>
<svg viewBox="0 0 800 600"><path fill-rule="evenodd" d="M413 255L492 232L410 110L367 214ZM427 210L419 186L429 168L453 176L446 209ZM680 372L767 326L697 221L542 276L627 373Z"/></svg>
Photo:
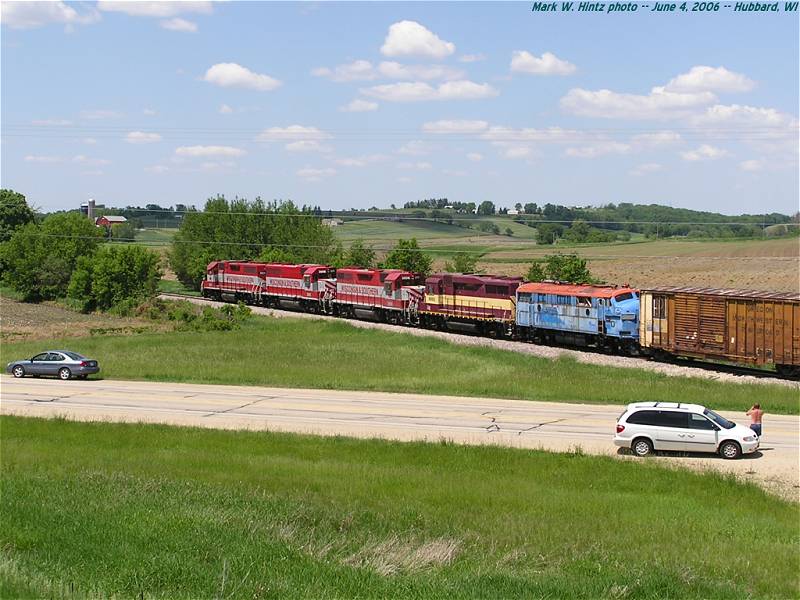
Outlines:
<svg viewBox="0 0 800 600"><path fill-rule="evenodd" d="M3 598L790 598L800 509L647 461L3 417Z"/></svg>

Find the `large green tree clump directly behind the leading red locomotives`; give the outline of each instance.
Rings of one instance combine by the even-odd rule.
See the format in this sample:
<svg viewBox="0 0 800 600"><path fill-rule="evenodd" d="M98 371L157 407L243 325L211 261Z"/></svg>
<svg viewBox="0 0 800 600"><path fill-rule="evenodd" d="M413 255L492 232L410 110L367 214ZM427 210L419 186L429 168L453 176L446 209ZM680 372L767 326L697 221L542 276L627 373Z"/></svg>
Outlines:
<svg viewBox="0 0 800 600"><path fill-rule="evenodd" d="M328 264L341 259L341 245L320 217L292 202L217 196L202 212L186 213L169 260L181 282L199 287L212 260L253 260L265 253L284 262Z"/></svg>

